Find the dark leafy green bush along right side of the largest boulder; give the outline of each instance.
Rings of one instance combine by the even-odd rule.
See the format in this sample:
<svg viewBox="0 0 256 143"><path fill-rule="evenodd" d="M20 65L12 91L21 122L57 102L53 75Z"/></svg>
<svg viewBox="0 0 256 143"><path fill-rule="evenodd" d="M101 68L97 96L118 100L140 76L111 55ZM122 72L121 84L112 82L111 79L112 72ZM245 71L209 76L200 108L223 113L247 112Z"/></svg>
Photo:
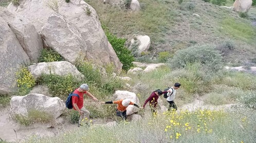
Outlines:
<svg viewBox="0 0 256 143"><path fill-rule="evenodd" d="M123 64L122 69L129 70L133 66L134 57L132 56L132 52L124 46L126 39L118 38L117 36L110 33L106 27L102 27L105 31L108 41L113 46L117 57L120 62Z"/></svg>

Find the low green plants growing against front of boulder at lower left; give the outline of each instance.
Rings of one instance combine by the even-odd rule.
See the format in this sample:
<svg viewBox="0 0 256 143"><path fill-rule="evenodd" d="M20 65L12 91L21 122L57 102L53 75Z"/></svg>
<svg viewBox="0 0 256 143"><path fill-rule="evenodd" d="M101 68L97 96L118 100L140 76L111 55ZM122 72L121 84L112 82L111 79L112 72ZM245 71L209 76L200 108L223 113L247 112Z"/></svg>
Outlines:
<svg viewBox="0 0 256 143"><path fill-rule="evenodd" d="M15 114L14 120L23 126L29 126L32 123L48 123L53 120L53 116L46 111L30 110L28 115Z"/></svg>

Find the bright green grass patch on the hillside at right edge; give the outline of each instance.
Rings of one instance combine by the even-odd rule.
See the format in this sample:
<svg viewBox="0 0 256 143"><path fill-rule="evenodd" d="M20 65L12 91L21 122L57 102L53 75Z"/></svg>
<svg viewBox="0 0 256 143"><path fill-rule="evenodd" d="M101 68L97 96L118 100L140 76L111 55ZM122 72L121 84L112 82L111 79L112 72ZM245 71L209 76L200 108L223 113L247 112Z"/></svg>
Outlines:
<svg viewBox="0 0 256 143"><path fill-rule="evenodd" d="M249 23L226 18L221 22L223 30L238 40L250 42L255 38L255 29Z"/></svg>

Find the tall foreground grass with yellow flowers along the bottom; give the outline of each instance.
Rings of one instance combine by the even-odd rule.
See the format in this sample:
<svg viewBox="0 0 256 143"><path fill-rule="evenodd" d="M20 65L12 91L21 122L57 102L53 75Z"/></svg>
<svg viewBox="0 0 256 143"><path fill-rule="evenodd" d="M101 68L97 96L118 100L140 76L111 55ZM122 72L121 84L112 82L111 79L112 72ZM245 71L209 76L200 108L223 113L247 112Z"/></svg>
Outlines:
<svg viewBox="0 0 256 143"><path fill-rule="evenodd" d="M30 137L26 142L253 142L255 111L217 110L166 112L115 127L81 127L55 137Z"/></svg>

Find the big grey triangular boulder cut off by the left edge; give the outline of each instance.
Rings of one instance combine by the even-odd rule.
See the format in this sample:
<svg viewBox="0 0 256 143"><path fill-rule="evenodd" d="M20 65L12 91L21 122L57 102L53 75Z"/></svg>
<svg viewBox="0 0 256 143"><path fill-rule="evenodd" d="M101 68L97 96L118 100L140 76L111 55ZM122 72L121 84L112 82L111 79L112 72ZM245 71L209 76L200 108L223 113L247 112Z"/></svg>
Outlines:
<svg viewBox="0 0 256 143"><path fill-rule="evenodd" d="M8 22L0 16L0 94L10 94L15 90L15 73L23 64L30 64Z"/></svg>

